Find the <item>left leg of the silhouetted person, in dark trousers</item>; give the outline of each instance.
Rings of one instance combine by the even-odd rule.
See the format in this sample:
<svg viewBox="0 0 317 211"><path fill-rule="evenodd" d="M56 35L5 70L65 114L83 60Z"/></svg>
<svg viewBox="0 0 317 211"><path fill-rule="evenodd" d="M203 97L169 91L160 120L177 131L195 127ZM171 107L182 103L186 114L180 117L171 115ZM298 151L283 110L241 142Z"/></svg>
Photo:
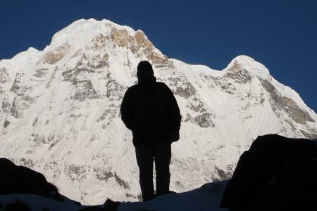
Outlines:
<svg viewBox="0 0 317 211"><path fill-rule="evenodd" d="M137 165L139 166L139 185L141 186L143 200L154 197L153 185L153 146L142 145L135 148Z"/></svg>

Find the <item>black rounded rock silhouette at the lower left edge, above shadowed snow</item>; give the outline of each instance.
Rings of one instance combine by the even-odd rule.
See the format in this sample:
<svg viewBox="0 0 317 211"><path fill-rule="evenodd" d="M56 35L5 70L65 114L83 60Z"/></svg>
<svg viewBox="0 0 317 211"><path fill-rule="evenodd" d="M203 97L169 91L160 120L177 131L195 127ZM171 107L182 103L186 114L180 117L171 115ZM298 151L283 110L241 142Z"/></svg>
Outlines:
<svg viewBox="0 0 317 211"><path fill-rule="evenodd" d="M31 193L46 198L59 198L53 184L43 174L27 167L15 165L6 158L0 158L0 194Z"/></svg>

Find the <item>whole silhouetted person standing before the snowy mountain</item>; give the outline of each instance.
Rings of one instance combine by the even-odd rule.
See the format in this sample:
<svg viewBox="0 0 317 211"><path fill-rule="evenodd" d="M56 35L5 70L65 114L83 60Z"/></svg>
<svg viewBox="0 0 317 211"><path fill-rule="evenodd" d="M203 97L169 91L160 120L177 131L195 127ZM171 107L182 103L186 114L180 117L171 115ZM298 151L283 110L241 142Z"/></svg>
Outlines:
<svg viewBox="0 0 317 211"><path fill-rule="evenodd" d="M147 61L137 65L138 83L123 97L120 112L125 126L132 131L139 184L143 200L154 198L153 161L156 169L156 196L169 192L170 145L180 138L180 109L173 92L156 82Z"/></svg>

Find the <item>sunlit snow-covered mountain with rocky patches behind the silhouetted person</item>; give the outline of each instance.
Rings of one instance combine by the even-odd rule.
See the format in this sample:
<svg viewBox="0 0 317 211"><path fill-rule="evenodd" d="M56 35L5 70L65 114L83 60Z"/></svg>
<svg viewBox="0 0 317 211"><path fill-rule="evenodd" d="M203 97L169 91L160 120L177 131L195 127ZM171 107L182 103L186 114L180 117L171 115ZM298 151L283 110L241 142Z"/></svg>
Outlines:
<svg viewBox="0 0 317 211"><path fill-rule="evenodd" d="M42 172L84 204L137 200L138 168L120 103L149 60L182 114L173 143L173 191L228 179L259 135L317 138L317 115L248 56L211 70L170 59L144 32L77 20L43 51L0 60L0 157Z"/></svg>

